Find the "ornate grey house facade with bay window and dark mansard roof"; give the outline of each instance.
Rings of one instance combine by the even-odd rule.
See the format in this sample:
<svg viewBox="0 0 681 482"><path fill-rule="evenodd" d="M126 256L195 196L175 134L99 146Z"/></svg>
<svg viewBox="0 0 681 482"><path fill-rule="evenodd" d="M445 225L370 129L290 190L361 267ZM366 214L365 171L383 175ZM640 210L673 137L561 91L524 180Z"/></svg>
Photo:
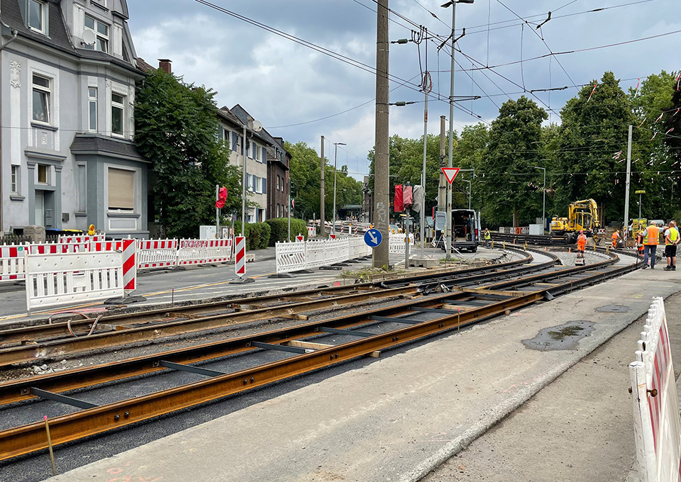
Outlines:
<svg viewBox="0 0 681 482"><path fill-rule="evenodd" d="M0 0L0 225L148 237L126 0Z"/></svg>

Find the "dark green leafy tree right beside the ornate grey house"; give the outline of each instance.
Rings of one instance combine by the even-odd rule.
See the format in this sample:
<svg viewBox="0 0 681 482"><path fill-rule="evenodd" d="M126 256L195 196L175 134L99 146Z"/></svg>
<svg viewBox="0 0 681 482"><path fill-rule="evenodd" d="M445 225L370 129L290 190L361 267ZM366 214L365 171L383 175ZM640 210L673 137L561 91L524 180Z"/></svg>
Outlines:
<svg viewBox="0 0 681 482"><path fill-rule="evenodd" d="M170 237L215 222L216 184L228 192L222 212L240 210L240 169L218 138L215 94L160 69L137 85L135 142L153 164L155 216Z"/></svg>

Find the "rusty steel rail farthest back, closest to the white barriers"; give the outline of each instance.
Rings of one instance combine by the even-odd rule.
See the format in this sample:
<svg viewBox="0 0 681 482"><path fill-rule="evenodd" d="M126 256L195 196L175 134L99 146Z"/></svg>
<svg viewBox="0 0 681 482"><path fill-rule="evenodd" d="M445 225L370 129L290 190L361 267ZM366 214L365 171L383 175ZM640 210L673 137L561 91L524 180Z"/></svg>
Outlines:
<svg viewBox="0 0 681 482"><path fill-rule="evenodd" d="M520 252L520 250L514 250ZM506 267L515 267L519 264L526 264L531 262L532 257L530 254L526 254L526 258L517 259L510 262L494 264L487 267L476 267L468 269L458 269L458 270L448 270L445 272L430 273L430 274L420 274L417 276L410 276L408 279L395 279L386 281L375 281L368 283L354 284L350 286L333 286L323 288L320 291L319 288L304 290L304 291L291 291L289 293L278 293L274 295L264 295L264 296L250 296L247 298L233 298L231 300L222 301L212 301L209 303L199 303L189 306L173 306L164 308L155 308L153 310L145 310L134 313L119 313L116 315L104 315L99 320L99 325L102 327L113 326L127 326L143 323L153 323L158 322L160 318L182 318L182 316L196 315L198 313L206 313L216 310L224 310L230 308L241 309L244 306L257 306L261 307L267 303L277 303L286 302L287 299L290 300L294 298L296 303L300 302L299 298L304 298L306 296L319 296L321 292L331 293L333 296L335 293L345 293L350 291L348 294L353 294L352 291L380 291L379 286L384 287L384 284L394 286L396 284L413 284L414 282L425 281L428 279L438 281L439 279L448 279L451 276L467 276L474 273L485 273L487 271L498 271L499 269L504 269ZM341 294L341 296L343 296ZM319 298L318 298L319 299ZM324 298L330 299L330 298ZM311 299L309 301L315 301ZM321 308L320 308L321 309ZM173 316L176 315L176 316ZM89 330L92 326L93 320L72 320L71 327L74 330ZM170 320L168 320L170 321ZM27 342L34 340L42 340L45 338L55 338L60 336L68 336L70 331L67 327L67 322L57 322L51 324L43 325L33 325L28 327L17 327L6 330L0 330L0 347L2 344L9 344L12 342Z"/></svg>

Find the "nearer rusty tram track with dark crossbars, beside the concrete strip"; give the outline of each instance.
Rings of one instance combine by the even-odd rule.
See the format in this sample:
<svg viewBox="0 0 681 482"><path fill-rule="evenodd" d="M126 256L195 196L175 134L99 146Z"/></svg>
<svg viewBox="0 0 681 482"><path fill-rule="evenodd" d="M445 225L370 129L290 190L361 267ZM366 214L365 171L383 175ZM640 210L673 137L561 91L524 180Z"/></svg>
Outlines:
<svg viewBox="0 0 681 482"><path fill-rule="evenodd" d="M72 442L357 357L376 355L381 350L480 323L636 269L635 264L615 266L618 261L619 257L611 254L603 262L586 267L550 266L519 277L506 274L509 279L504 281L498 281L492 271L486 273L487 283L470 280L485 274L470 273L467 281L466 276L448 280L452 284L443 293L427 294L425 288L433 284L422 284L421 296L362 313L0 383L0 420L25 423L0 431L0 459L30 454L47 445L42 421L21 420L26 404L49 400L47 403L62 408L62 413L49 420L52 444ZM257 362L261 354L270 352L281 358ZM237 362L241 357L254 357L256 362L234 370L234 366L240 366ZM192 374L196 379L141 396L126 386L134 386L140 376L173 374ZM96 390L110 383L116 383L116 391L123 394L121 398L130 398L101 405L92 401ZM74 407L80 410L71 412Z"/></svg>

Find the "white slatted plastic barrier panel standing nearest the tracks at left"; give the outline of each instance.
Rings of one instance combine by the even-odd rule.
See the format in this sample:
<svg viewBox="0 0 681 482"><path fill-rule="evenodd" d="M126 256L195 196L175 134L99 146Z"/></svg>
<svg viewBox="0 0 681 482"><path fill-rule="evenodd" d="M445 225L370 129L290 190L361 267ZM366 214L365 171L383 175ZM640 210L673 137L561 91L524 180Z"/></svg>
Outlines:
<svg viewBox="0 0 681 482"><path fill-rule="evenodd" d="M123 253L26 254L26 308L123 296Z"/></svg>

